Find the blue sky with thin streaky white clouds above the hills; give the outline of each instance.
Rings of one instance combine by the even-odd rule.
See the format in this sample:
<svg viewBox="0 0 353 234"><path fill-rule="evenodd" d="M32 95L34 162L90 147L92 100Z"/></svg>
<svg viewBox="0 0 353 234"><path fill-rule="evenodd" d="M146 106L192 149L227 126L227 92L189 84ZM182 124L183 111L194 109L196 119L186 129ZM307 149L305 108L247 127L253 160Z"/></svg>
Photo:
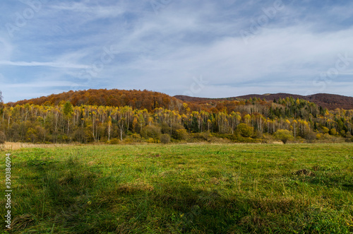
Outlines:
<svg viewBox="0 0 353 234"><path fill-rule="evenodd" d="M353 96L352 42L352 1L1 0L0 90Z"/></svg>

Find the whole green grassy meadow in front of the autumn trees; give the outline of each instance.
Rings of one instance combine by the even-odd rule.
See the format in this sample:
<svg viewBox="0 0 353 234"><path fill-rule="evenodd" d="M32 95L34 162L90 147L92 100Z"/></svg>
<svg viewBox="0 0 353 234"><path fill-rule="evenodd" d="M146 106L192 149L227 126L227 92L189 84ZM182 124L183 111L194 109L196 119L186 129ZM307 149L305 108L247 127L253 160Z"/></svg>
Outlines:
<svg viewBox="0 0 353 234"><path fill-rule="evenodd" d="M8 233L353 232L353 144L100 145L0 153L1 194L5 154L12 154Z"/></svg>

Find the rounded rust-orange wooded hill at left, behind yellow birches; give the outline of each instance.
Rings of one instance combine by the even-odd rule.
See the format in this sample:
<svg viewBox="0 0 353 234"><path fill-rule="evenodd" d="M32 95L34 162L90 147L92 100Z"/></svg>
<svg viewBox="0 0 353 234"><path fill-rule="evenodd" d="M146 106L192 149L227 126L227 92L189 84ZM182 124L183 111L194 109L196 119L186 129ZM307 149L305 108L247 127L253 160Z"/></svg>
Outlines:
<svg viewBox="0 0 353 234"><path fill-rule="evenodd" d="M66 93L52 94L46 97L20 100L16 103L8 103L9 106L16 105L59 105L70 101L73 106L97 105L97 106L130 106L134 109L154 110L157 107L175 109L182 105L181 100L164 93L148 90L118 90L118 89L90 89L79 91L68 91Z"/></svg>

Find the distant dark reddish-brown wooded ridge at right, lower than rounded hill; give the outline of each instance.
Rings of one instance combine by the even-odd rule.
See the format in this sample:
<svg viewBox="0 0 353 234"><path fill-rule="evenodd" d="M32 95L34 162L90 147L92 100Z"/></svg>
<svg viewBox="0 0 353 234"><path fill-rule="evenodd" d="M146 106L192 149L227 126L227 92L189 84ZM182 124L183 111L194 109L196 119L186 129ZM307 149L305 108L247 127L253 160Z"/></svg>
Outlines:
<svg viewBox="0 0 353 234"><path fill-rule="evenodd" d="M243 95L237 96L232 98L194 98L185 95L176 95L174 98L178 98L179 100L192 102L192 103L210 103L210 102L217 102L222 100L249 100L250 98L260 98L265 99L267 101L278 100L280 98L285 99L287 97L292 97L294 99L303 99L309 100L311 103L315 103L318 106L326 108L328 110L335 110L336 108L341 108L345 110L353 110L353 98L342 96L342 95L335 95L335 94L328 94L328 93L318 93L314 95L293 95L289 93L275 93L275 94L250 94L250 95Z"/></svg>

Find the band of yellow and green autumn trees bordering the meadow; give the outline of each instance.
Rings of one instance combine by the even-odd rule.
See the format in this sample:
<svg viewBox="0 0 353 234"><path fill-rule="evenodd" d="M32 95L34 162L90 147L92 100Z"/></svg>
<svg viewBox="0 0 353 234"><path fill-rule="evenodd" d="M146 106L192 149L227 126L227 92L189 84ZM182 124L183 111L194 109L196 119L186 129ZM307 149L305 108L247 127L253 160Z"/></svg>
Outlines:
<svg viewBox="0 0 353 234"><path fill-rule="evenodd" d="M148 108L136 108L137 99L134 105L124 101L116 106L73 105L70 100L56 105L1 102L0 138L32 143L167 143L207 141L214 136L253 142L287 130L294 139L353 140L353 110L329 111L290 97L272 102L251 98L195 104L151 96L150 103L145 103Z"/></svg>

